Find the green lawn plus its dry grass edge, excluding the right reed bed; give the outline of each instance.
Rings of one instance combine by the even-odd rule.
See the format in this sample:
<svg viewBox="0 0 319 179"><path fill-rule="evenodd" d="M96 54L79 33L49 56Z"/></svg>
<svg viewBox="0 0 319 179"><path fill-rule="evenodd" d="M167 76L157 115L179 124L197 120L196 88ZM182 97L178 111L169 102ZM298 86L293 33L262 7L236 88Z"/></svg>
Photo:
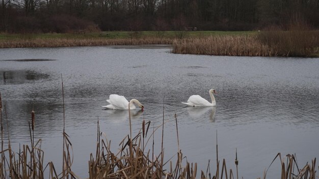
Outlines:
<svg viewBox="0 0 319 179"><path fill-rule="evenodd" d="M235 36L254 33L223 31L120 31L85 34L0 34L0 48L173 44L174 39L205 38L216 35Z"/></svg>

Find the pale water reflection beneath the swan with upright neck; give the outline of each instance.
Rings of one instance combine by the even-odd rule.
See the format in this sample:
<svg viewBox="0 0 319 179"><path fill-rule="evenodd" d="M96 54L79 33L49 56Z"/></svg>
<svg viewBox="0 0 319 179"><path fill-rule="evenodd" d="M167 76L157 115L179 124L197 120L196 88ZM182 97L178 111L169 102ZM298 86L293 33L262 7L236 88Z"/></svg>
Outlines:
<svg viewBox="0 0 319 179"><path fill-rule="evenodd" d="M186 108L189 115L196 120L203 120L203 116L205 116L204 114L210 111L209 120L211 122L215 122L215 112L216 112L215 106L214 107L186 107Z"/></svg>

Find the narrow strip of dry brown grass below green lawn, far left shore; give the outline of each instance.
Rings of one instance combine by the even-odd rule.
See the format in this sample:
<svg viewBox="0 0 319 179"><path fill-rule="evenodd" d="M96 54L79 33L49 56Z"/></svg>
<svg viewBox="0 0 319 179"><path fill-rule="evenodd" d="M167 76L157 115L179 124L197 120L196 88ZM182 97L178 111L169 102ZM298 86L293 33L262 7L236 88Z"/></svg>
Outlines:
<svg viewBox="0 0 319 179"><path fill-rule="evenodd" d="M12 39L1 40L0 48L19 47L60 47L60 46L99 46L99 45L146 45L146 44L172 44L169 38L125 38L125 39Z"/></svg>

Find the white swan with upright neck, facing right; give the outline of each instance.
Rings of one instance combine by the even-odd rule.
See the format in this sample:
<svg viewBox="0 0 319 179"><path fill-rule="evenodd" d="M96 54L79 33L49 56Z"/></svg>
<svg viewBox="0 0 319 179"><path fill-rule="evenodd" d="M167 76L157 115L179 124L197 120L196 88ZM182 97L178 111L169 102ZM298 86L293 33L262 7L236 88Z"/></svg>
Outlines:
<svg viewBox="0 0 319 179"><path fill-rule="evenodd" d="M182 102L182 104L185 104L188 106L193 106L193 107L195 107L195 106L216 106L216 100L215 100L214 94L212 94L212 93L216 93L215 89L209 90L211 103L209 103L206 99L202 98L200 95L197 94L197 95L191 95L189 97L189 99L187 100L187 103Z"/></svg>

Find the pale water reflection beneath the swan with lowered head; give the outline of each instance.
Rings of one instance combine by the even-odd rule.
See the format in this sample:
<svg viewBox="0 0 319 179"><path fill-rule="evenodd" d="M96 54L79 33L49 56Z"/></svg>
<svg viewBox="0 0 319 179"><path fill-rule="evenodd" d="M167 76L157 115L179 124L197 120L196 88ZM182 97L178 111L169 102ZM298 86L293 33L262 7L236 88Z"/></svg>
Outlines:
<svg viewBox="0 0 319 179"><path fill-rule="evenodd" d="M104 110L107 114L108 119L115 122L126 122L128 121L128 110ZM131 119L139 118L143 113L143 110L135 111L130 110Z"/></svg>

